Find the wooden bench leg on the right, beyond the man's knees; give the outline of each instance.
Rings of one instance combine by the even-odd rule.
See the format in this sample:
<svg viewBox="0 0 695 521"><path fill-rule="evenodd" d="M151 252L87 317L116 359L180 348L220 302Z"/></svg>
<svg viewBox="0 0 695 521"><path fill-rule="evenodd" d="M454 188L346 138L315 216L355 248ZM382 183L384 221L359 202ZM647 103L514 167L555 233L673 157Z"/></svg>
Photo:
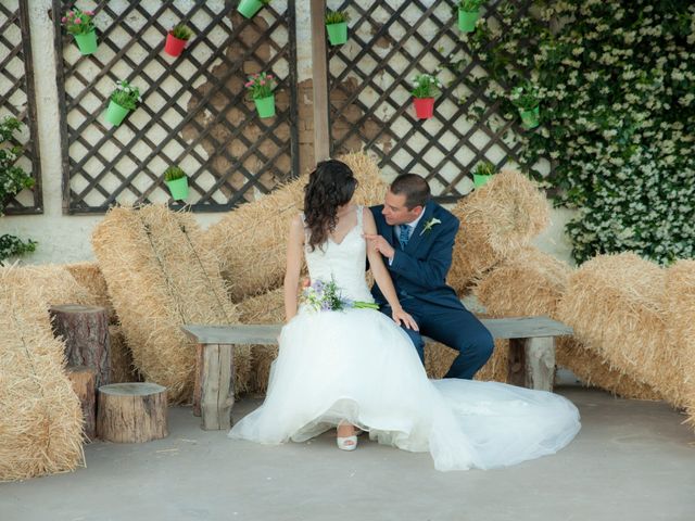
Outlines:
<svg viewBox="0 0 695 521"><path fill-rule="evenodd" d="M507 381L513 385L553 391L555 338L510 339Z"/></svg>

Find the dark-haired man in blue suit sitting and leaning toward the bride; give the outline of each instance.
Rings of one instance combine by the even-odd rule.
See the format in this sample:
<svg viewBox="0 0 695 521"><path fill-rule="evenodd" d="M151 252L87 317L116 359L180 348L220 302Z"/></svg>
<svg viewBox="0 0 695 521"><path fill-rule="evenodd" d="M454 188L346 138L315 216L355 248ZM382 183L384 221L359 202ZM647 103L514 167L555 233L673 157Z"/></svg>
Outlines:
<svg viewBox="0 0 695 521"><path fill-rule="evenodd" d="M384 204L370 209L378 234L365 237L383 255L403 309L419 326L419 331L403 329L420 360L425 360L424 334L458 351L444 378L472 379L492 355L494 342L446 285L458 219L430 201L429 185L416 174L396 177ZM390 317L391 307L377 284L371 294Z"/></svg>

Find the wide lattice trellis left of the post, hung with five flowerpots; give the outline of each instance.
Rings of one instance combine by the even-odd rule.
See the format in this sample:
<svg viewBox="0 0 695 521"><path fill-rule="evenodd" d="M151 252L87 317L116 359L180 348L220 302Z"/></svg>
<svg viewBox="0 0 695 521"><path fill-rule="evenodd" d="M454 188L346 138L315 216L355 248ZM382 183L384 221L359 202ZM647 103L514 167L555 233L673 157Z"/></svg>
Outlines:
<svg viewBox="0 0 695 521"><path fill-rule="evenodd" d="M60 17L76 3L96 12L99 48L83 56ZM189 176L194 211L225 211L266 193L299 169L294 1L274 1L252 20L238 2L53 1L66 213L115 203L167 202L163 173ZM181 56L163 52L177 23L195 36ZM271 72L276 116L258 118L243 84ZM118 127L103 118L117 79L142 103Z"/></svg>

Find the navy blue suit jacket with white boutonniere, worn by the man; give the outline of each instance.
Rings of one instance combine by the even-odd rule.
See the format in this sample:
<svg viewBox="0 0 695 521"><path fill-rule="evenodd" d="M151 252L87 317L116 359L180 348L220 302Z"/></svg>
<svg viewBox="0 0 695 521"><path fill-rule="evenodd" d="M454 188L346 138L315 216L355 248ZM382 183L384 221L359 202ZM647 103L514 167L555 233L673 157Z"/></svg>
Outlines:
<svg viewBox="0 0 695 521"><path fill-rule="evenodd" d="M389 266L388 259L384 259L384 264L403 308L414 314L431 305L462 309L456 292L446 285L458 219L435 202L429 201L422 218L403 250L394 227L388 225L381 215L382 208L383 205L379 205L369 209L377 223L377 232L395 249L391 265ZM441 223L425 230L426 224L433 218ZM387 304L377 284L371 288L371 294L379 305Z"/></svg>

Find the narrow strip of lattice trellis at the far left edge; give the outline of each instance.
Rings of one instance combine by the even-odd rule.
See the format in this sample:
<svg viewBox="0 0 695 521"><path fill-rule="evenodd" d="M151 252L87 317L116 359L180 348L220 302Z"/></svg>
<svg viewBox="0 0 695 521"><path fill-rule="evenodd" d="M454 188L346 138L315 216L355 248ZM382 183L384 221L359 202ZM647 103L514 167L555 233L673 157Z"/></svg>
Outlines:
<svg viewBox="0 0 695 521"><path fill-rule="evenodd" d="M14 134L23 155L16 165L31 175L35 185L7 202L5 214L40 214L41 162L36 126L36 99L27 0L0 2L0 119L16 117L23 123Z"/></svg>

